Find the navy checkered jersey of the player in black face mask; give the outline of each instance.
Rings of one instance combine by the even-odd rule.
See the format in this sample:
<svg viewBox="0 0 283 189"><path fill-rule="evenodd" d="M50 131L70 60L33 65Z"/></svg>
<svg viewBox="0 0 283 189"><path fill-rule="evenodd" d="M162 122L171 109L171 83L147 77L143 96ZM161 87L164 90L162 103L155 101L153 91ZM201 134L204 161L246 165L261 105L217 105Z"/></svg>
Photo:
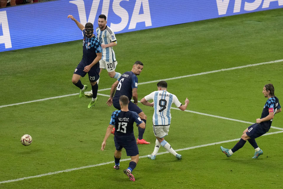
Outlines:
<svg viewBox="0 0 283 189"><path fill-rule="evenodd" d="M83 30L83 58L81 63L85 66L90 65L96 58L96 53L101 53L101 44L98 38L94 35L92 38L87 38L85 35L85 30ZM98 66L96 64L94 66Z"/></svg>

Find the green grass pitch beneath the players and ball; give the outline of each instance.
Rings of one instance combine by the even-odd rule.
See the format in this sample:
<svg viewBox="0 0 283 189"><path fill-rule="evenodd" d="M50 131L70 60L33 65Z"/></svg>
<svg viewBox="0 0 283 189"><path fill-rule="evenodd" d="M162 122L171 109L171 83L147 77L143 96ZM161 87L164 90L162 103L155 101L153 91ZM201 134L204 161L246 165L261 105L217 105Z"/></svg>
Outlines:
<svg viewBox="0 0 283 189"><path fill-rule="evenodd" d="M283 61L277 61L283 59L282 18L283 9L276 9L116 35L116 71L144 63L139 100L156 90L152 81L160 79L180 102L190 100L189 111L171 110L165 137L182 154L180 161L163 148L155 161L145 157L154 149L153 109L138 104L148 117L144 139L151 144L139 145L135 182L123 174L129 160L113 169L113 136L100 151L115 110L106 105L115 79L102 72L93 109L71 82L82 57L81 40L1 52L0 188L283 188L283 133L274 133L282 130L271 128L274 134L256 140L264 151L258 159L251 158L249 143L230 158L220 150L232 148L250 125L235 120L254 123L260 117L264 84L274 84L283 105ZM277 62L204 74L270 61ZM82 82L90 87L87 77ZM62 95L67 96L52 98ZM50 99L29 102L44 98ZM13 105L21 102L29 103ZM283 113L272 126L283 128ZM20 143L23 134L32 136L30 146ZM123 150L121 159L128 158ZM30 178L16 180L24 177Z"/></svg>

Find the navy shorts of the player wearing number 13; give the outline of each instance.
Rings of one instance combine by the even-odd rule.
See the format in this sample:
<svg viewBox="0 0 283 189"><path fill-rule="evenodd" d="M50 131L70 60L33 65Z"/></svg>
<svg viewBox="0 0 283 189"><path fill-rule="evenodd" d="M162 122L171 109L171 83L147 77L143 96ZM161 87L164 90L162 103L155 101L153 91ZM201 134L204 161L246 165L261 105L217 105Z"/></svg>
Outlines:
<svg viewBox="0 0 283 189"><path fill-rule="evenodd" d="M126 150L127 156L136 156L139 154L138 145L136 144L136 138L134 134L132 135L115 135L114 142L116 150L121 150L124 148Z"/></svg>

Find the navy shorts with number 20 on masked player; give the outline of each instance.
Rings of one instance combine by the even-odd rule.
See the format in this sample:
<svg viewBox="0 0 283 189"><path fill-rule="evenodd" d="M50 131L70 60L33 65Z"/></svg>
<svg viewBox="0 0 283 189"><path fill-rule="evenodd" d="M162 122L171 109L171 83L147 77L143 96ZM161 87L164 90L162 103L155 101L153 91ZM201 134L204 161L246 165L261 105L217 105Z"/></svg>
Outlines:
<svg viewBox="0 0 283 189"><path fill-rule="evenodd" d="M100 71L99 63L96 63L96 65L92 66L88 72L84 72L83 71L84 69L85 69L85 65L82 62L80 62L76 67L74 74L78 74L84 77L86 73L88 73L88 79L91 82L95 82L99 79L99 71Z"/></svg>

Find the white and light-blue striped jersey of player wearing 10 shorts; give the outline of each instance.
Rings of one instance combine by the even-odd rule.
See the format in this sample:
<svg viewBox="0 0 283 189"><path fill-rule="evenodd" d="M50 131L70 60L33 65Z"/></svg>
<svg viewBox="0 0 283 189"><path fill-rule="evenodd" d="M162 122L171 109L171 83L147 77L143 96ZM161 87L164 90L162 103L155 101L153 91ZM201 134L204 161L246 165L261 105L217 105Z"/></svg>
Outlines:
<svg viewBox="0 0 283 189"><path fill-rule="evenodd" d="M101 44L109 44L111 42L117 41L114 32L107 25L103 31L101 31L100 28L97 27L96 32L97 32L97 37ZM116 58L113 48L112 47L103 48L101 59L106 62L115 62Z"/></svg>

